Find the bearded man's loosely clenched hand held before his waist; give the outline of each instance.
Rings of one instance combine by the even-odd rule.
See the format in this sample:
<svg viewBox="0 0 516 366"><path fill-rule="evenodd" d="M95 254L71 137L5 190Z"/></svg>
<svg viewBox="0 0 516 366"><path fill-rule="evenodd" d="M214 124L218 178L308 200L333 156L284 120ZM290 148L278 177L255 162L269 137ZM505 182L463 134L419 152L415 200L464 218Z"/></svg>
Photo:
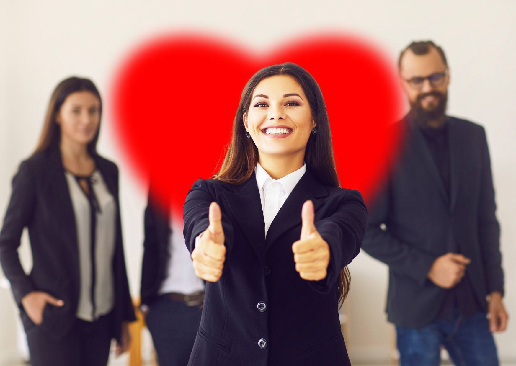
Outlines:
<svg viewBox="0 0 516 366"><path fill-rule="evenodd" d="M460 282L471 260L462 254L446 253L437 258L430 268L427 277L443 289L451 289Z"/></svg>

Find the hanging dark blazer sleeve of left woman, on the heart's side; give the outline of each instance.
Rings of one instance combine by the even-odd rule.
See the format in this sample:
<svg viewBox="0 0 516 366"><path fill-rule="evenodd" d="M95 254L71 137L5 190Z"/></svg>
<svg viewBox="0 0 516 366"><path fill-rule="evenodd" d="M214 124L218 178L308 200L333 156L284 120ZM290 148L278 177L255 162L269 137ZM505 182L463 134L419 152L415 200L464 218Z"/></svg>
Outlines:
<svg viewBox="0 0 516 366"><path fill-rule="evenodd" d="M117 261L119 268L121 270L120 279L117 285L122 286L122 320L133 322L136 320L136 316L133 309L133 300L131 298L131 292L129 290L129 281L127 280L127 270L125 268L125 256L124 256L124 248L123 248L123 237L122 237L122 220L120 213L120 201L119 201L119 173L118 167L114 165L115 169L115 182L117 187L117 202L118 202L118 215L117 215L117 231L119 238L117 239L118 250L117 253Z"/></svg>

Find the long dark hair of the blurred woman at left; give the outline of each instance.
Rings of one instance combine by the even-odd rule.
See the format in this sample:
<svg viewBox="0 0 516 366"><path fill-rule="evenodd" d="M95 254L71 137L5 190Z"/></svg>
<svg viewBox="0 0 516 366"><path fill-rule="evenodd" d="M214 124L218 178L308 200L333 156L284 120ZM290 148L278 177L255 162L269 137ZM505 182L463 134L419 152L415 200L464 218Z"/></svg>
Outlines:
<svg viewBox="0 0 516 366"><path fill-rule="evenodd" d="M41 131L38 146L36 147L33 155L59 146L59 142L61 140L61 128L56 122L56 116L59 113L63 102L65 102L65 99L71 93L76 91L89 91L99 98L99 112L102 116L102 98L100 97L99 90L90 79L72 76L63 80L56 86L52 93L52 97L50 97L49 107L46 109L45 120L43 122L43 130ZM100 124L95 137L93 137L93 140L88 144L88 152L91 156L96 155L96 143L99 139L99 131Z"/></svg>

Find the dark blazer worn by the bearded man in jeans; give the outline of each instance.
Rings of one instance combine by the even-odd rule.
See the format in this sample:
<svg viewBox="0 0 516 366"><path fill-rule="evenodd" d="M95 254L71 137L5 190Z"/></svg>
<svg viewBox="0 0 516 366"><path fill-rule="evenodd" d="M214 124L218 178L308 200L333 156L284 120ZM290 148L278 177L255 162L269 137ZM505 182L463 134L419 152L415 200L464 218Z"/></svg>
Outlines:
<svg viewBox="0 0 516 366"><path fill-rule="evenodd" d="M363 249L389 265L389 321L419 328L432 322L446 294L427 274L454 251L471 259L466 274L482 309L503 293L499 226L484 129L448 117L449 198L423 132L409 118L405 147L369 212ZM385 227L380 227L384 224Z"/></svg>

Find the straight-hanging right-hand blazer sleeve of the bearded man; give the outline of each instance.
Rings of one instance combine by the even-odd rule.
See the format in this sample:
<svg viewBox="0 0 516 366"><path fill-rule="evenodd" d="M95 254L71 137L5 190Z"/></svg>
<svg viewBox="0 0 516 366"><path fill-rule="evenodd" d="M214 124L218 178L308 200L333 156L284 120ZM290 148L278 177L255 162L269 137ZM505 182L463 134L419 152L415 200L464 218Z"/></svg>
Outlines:
<svg viewBox="0 0 516 366"><path fill-rule="evenodd" d="M496 219L491 161L486 132L482 128L481 186L478 207L478 236L480 252L488 293L498 291L504 294L504 274L502 254L500 253L500 226Z"/></svg>

